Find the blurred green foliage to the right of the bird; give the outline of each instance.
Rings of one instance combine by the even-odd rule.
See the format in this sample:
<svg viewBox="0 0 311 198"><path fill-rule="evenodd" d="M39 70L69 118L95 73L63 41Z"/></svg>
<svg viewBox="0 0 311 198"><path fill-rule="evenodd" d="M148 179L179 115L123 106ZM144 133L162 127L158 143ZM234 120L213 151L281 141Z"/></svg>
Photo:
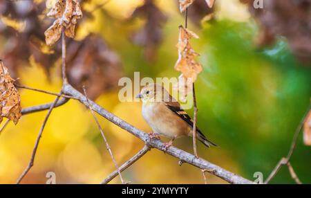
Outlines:
<svg viewBox="0 0 311 198"><path fill-rule="evenodd" d="M231 150L245 173L264 176L285 156L310 103L311 70L294 60L284 39L258 50L254 24L214 22L202 31L198 82L199 125ZM301 157L299 157L301 156ZM292 163L301 180L311 183L310 147L299 139ZM285 168L286 169L286 168ZM287 171L275 183L291 183Z"/></svg>

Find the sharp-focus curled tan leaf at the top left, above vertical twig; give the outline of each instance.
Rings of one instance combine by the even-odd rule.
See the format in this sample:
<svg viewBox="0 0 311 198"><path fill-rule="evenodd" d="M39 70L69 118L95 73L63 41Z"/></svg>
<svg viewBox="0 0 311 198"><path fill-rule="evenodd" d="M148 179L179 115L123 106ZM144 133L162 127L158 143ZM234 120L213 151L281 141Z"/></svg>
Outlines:
<svg viewBox="0 0 311 198"><path fill-rule="evenodd" d="M75 25L82 18L82 10L77 0L58 0L47 16L56 19L44 33L46 44L53 45L61 36L63 26L67 37L75 37Z"/></svg>

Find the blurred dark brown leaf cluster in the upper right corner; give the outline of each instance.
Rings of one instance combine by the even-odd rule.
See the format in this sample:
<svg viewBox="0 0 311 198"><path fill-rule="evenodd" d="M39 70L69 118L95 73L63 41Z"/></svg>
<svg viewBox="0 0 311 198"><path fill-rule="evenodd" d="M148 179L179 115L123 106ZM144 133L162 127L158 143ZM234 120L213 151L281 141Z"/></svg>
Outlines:
<svg viewBox="0 0 311 198"><path fill-rule="evenodd" d="M240 0L260 24L258 46L274 44L279 36L286 37L296 58L311 62L311 0L264 1L263 9L254 8L254 0Z"/></svg>

